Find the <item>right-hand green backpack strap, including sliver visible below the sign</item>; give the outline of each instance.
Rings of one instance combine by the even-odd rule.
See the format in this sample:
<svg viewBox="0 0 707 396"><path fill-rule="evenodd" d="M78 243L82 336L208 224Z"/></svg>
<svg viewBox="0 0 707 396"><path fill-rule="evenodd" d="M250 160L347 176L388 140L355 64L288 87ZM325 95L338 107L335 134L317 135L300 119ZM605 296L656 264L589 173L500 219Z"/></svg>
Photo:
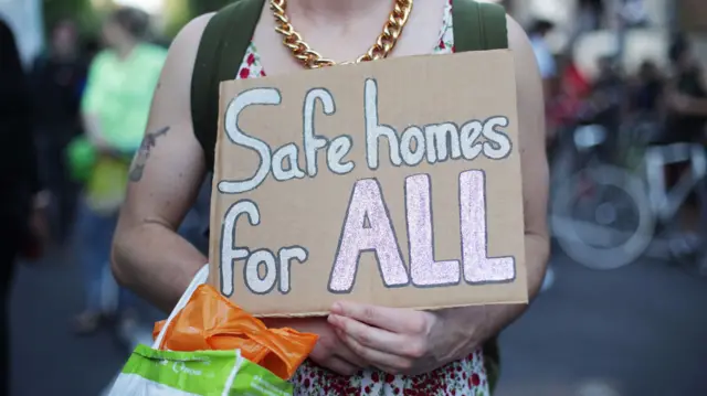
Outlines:
<svg viewBox="0 0 707 396"><path fill-rule="evenodd" d="M456 52L508 49L506 10L499 4L453 0L452 21ZM500 374L500 353L496 338L484 344L484 365L493 393Z"/></svg>

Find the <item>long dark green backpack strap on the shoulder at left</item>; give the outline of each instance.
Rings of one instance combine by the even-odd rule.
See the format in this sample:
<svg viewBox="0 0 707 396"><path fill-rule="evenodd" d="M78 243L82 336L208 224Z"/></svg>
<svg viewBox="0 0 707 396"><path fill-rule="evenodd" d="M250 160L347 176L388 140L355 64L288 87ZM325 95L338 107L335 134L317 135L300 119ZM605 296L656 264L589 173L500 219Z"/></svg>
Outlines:
<svg viewBox="0 0 707 396"><path fill-rule="evenodd" d="M219 85L234 79L251 44L264 0L236 0L217 12L203 31L191 76L194 135L213 170L219 122Z"/></svg>

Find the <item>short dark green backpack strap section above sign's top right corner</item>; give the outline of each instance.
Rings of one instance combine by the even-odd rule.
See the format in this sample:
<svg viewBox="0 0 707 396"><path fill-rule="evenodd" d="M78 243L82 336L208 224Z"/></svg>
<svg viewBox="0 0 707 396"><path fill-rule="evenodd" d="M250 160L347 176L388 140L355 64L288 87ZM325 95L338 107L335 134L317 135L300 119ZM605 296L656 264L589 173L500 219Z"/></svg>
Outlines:
<svg viewBox="0 0 707 396"><path fill-rule="evenodd" d="M456 52L508 49L506 10L500 4L453 0L452 21Z"/></svg>

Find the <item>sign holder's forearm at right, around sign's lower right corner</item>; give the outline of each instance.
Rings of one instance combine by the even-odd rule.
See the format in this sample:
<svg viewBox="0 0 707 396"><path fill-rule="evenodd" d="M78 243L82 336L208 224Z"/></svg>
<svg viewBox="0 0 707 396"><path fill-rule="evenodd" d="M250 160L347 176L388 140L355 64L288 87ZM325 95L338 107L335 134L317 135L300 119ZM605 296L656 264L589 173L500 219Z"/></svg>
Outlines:
<svg viewBox="0 0 707 396"><path fill-rule="evenodd" d="M545 269L549 258L549 242L546 236L526 235L526 267L528 269L528 298L535 299L542 285ZM457 329L465 340L449 361L468 356L484 342L500 333L518 319L528 304L477 306L444 310L441 312L446 328Z"/></svg>

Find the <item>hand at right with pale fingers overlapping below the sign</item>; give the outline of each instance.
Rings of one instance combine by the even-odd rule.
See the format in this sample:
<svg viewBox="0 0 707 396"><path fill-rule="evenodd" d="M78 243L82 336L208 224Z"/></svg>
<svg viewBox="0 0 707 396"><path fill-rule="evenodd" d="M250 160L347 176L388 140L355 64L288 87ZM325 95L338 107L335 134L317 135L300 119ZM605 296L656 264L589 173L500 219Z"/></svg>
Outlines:
<svg viewBox="0 0 707 396"><path fill-rule="evenodd" d="M328 321L351 351L390 374L434 371L463 344L434 312L337 302Z"/></svg>

